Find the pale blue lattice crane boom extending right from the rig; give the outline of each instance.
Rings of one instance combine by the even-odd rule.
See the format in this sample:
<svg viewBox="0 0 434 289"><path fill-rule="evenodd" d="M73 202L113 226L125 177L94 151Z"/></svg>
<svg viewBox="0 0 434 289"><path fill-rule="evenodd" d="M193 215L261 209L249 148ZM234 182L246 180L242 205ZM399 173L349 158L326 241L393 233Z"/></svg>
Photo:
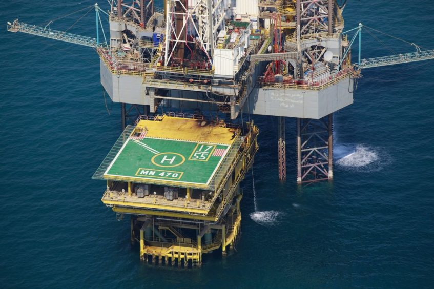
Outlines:
<svg viewBox="0 0 434 289"><path fill-rule="evenodd" d="M434 50L363 59L357 68L371 68L434 59Z"/></svg>

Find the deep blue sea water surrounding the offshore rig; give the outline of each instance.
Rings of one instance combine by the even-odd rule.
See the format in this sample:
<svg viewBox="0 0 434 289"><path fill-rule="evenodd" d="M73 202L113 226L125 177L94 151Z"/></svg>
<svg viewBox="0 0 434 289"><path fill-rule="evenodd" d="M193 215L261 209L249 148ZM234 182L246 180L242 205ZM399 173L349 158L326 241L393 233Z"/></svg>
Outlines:
<svg viewBox="0 0 434 289"><path fill-rule="evenodd" d="M0 23L19 17L45 26L92 4L7 2ZM100 5L107 9L104 1ZM51 28L68 29L85 11ZM93 13L69 31L94 36ZM344 17L348 29L362 22L434 48L430 1L348 1ZM255 116L261 148L255 190L251 174L242 183L238 252L207 256L200 270L170 270L139 261L138 247L130 245L129 220L116 220L100 201L104 182L91 179L120 133L120 108L114 104L107 113L95 51L13 34L5 26L0 31L2 287L434 286L434 61L363 71L354 104L335 114L330 183L295 185L292 119L286 123L288 180L280 183L277 121ZM362 39L362 57L414 50L393 38L383 38L386 48L366 32ZM255 207L262 213L252 219Z"/></svg>

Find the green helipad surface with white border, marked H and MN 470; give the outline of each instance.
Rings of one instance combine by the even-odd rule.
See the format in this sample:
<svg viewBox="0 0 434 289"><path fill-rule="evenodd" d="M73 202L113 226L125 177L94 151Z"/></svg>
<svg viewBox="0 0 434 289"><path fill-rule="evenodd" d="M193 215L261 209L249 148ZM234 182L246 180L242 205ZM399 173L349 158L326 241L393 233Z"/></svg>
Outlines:
<svg viewBox="0 0 434 289"><path fill-rule="evenodd" d="M104 178L208 185L229 148L227 144L130 137L110 163Z"/></svg>

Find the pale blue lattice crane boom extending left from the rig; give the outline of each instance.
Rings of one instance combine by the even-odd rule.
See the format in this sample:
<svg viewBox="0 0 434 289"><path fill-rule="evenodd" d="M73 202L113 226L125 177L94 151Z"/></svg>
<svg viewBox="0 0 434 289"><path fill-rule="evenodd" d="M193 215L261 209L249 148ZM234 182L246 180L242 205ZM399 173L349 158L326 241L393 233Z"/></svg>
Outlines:
<svg viewBox="0 0 434 289"><path fill-rule="evenodd" d="M69 42L78 45L84 45L89 47L97 47L97 40L95 38L81 36L77 34L47 29L44 27L38 27L34 25L28 25L25 23L19 23L18 19L13 23L8 22L8 31L11 32L23 32L41 37L51 38L64 42Z"/></svg>

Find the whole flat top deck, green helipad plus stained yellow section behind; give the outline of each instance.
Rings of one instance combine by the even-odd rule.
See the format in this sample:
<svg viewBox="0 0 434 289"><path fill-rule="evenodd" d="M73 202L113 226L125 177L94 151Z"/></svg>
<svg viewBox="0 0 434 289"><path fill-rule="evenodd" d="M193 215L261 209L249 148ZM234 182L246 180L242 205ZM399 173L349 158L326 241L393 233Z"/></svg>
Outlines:
<svg viewBox="0 0 434 289"><path fill-rule="evenodd" d="M197 119L140 120L103 178L208 187L231 150L238 129Z"/></svg>

